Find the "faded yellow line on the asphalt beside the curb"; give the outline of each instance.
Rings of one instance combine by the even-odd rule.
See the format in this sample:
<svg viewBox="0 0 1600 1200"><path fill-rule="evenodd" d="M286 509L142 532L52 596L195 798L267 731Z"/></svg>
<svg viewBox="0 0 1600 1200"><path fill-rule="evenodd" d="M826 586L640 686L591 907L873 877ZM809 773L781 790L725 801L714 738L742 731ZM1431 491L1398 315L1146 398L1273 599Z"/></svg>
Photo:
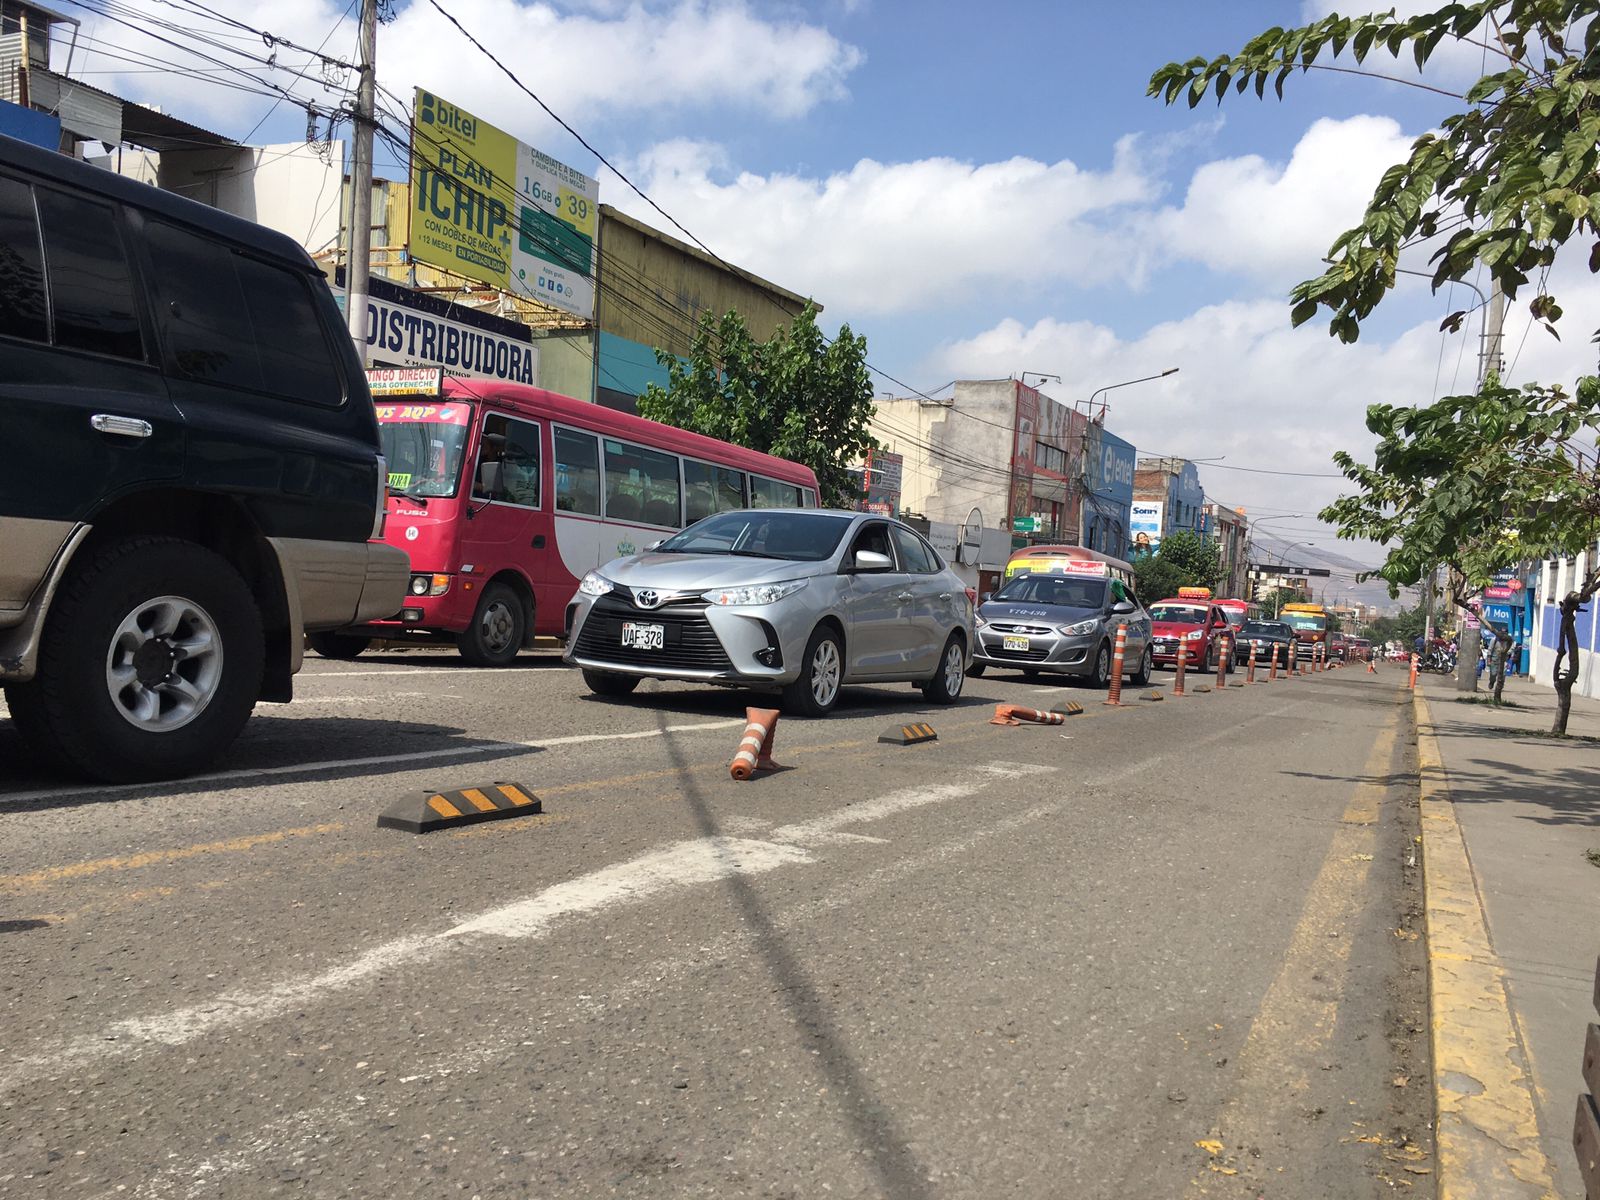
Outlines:
<svg viewBox="0 0 1600 1200"><path fill-rule="evenodd" d="M1395 706L1373 739L1362 770L1363 779L1389 774L1403 709ZM1376 819L1384 786L1360 782L1346 803L1333 840L1306 893L1299 920L1283 950L1283 963L1250 1022L1232 1093L1202 1144L1208 1162L1190 1179L1190 1195L1206 1195L1222 1178L1238 1176L1250 1195L1277 1176L1286 1163L1238 1155L1237 1147L1282 1147L1285 1114L1309 1107L1301 1099L1310 1090L1310 1064L1323 1061L1344 1000L1354 925L1366 899ZM1307 979L1318 979L1317 987Z"/></svg>

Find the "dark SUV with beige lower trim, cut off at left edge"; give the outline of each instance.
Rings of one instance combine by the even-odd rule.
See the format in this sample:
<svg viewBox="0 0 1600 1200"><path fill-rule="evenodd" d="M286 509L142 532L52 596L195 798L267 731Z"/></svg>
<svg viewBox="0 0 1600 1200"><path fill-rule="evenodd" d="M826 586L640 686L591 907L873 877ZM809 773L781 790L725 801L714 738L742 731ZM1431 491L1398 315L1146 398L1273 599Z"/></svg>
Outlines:
<svg viewBox="0 0 1600 1200"><path fill-rule="evenodd" d="M398 611L378 424L290 238L0 136L0 685L99 779L222 754Z"/></svg>

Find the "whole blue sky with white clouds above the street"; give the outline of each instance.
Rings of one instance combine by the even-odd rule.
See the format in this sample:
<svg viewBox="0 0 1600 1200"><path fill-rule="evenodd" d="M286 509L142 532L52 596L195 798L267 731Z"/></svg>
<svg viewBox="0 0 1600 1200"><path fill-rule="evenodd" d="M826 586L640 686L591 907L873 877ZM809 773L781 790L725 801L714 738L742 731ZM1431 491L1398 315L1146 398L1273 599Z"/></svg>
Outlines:
<svg viewBox="0 0 1600 1200"><path fill-rule="evenodd" d="M346 0L214 3L354 53ZM1046 390L1072 402L1179 366L1114 394L1109 424L1142 453L1221 458L1202 467L1208 493L1285 534L1331 544L1312 514L1341 490L1326 478L1331 451L1368 448L1368 403L1419 403L1474 382L1475 330L1437 330L1474 302L1462 290L1435 298L1408 280L1355 347L1322 326L1290 330L1285 302L1360 218L1378 174L1451 101L1331 74L1291 78L1283 102L1230 94L1221 109L1190 110L1144 94L1163 62L1235 51L1267 26L1328 11L1318 0L446 6L718 254L814 294L826 323L850 322L874 365L914 387L1042 371L1059 374ZM1482 51L1445 45L1427 78L1459 91L1480 64ZM1418 78L1386 54L1368 66ZM280 75L307 94L315 78ZM598 170L427 0L402 0L382 27L379 78L400 96L427 86ZM176 77L94 82L235 136L267 107ZM280 106L256 141L302 138L304 123ZM605 202L664 224L614 176L600 179ZM1426 267L1426 254L1410 266ZM1562 344L1530 336L1514 306L1512 379L1594 366L1578 331L1600 325L1600 296L1586 272L1558 267L1557 280L1573 333Z"/></svg>

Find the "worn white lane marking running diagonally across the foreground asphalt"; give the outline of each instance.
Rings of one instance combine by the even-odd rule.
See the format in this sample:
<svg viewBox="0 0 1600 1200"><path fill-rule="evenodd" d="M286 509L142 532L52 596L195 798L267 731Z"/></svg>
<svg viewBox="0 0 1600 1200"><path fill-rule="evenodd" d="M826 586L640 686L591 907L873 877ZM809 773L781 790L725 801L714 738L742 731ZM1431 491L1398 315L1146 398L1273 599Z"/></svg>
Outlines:
<svg viewBox="0 0 1600 1200"><path fill-rule="evenodd" d="M1053 771L1054 768L989 763L976 770L997 779ZM811 864L818 859L806 848L795 845L805 837L821 835L819 842L832 840L838 826L875 821L909 808L973 795L981 787L982 782L974 781L891 792L816 821L786 826L774 830L774 840L770 842L731 837L678 842L565 883L555 883L523 901L491 909L443 933L395 938L328 971L280 981L259 990L226 992L198 1005L160 1016L122 1019L102 1032L67 1038L46 1053L18 1058L5 1064L0 1069L0 1093L40 1075L59 1077L94 1059L138 1053L152 1043L181 1046L219 1029L270 1021L286 1011L302 1010L326 994L354 987L374 974L426 962L445 947L459 944L469 934L542 938L560 917L605 912L621 904L712 883L731 875L755 875L784 866ZM784 842L776 840L779 834L787 834Z"/></svg>

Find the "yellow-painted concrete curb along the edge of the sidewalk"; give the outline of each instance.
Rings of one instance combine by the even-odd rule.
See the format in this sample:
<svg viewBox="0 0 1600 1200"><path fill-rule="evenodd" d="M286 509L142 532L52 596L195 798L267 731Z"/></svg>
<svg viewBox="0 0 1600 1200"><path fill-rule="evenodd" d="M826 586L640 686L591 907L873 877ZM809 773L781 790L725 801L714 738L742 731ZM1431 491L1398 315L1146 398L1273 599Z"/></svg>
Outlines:
<svg viewBox="0 0 1600 1200"><path fill-rule="evenodd" d="M1411 693L1421 776L1438 1200L1555 1197L1539 1141L1506 971L1490 944L1467 843L1456 822L1432 717Z"/></svg>

